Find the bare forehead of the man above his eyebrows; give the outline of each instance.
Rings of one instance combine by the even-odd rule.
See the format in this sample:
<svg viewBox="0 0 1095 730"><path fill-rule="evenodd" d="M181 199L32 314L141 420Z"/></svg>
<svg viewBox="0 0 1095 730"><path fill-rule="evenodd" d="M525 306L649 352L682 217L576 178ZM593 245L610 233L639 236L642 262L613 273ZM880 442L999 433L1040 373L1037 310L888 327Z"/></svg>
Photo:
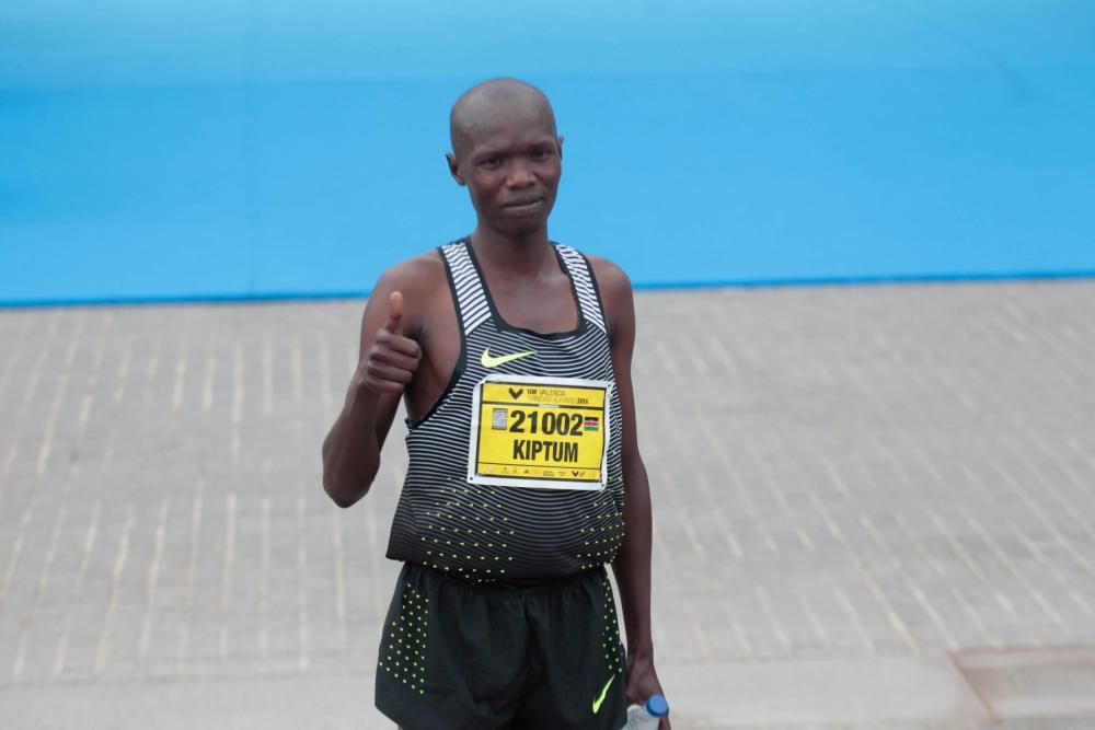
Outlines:
<svg viewBox="0 0 1095 730"><path fill-rule="evenodd" d="M502 149L555 138L551 107L534 100L483 100L466 111L459 130L466 149Z"/></svg>

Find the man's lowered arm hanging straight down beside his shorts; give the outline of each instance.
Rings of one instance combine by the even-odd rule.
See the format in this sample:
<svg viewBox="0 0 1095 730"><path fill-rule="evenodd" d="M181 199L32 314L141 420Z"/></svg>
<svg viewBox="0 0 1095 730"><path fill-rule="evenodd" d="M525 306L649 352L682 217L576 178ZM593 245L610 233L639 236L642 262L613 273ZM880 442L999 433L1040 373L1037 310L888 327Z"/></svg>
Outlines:
<svg viewBox="0 0 1095 730"><path fill-rule="evenodd" d="M620 554L612 563L620 587L623 623L627 635L627 703L643 704L653 694L664 694L654 669L650 634L650 484L638 452L635 396L631 360L635 348L635 304L627 275L618 266L595 259L593 269L604 303L612 346L612 369L623 412L623 478L625 533ZM669 730L669 719L661 721Z"/></svg>

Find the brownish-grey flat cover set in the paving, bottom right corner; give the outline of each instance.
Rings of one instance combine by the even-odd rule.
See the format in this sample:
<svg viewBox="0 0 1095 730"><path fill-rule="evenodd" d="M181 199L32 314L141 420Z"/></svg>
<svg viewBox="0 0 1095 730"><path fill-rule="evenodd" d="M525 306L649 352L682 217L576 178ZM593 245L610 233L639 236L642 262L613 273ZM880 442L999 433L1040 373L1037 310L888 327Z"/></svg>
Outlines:
<svg viewBox="0 0 1095 730"><path fill-rule="evenodd" d="M1095 648L979 649L952 658L996 719L1095 718Z"/></svg>

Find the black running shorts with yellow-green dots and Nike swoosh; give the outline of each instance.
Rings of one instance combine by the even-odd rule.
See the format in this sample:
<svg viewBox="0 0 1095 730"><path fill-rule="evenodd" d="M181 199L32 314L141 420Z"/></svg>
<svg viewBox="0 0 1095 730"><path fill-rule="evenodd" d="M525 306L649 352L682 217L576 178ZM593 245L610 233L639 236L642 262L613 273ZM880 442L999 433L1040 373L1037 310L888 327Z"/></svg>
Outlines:
<svg viewBox="0 0 1095 730"><path fill-rule="evenodd" d="M406 564L377 707L405 730L620 730L623 667L604 568L515 587Z"/></svg>

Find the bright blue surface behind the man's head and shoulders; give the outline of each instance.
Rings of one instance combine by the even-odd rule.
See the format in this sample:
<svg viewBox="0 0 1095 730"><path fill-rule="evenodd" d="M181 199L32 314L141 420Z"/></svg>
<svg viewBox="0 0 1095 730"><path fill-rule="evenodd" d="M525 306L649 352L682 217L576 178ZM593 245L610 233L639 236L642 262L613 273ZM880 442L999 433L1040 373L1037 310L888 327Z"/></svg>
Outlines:
<svg viewBox="0 0 1095 730"><path fill-rule="evenodd" d="M331 296L471 230L447 114L566 136L553 237L641 286L1095 274L1085 0L0 9L0 302Z"/></svg>

